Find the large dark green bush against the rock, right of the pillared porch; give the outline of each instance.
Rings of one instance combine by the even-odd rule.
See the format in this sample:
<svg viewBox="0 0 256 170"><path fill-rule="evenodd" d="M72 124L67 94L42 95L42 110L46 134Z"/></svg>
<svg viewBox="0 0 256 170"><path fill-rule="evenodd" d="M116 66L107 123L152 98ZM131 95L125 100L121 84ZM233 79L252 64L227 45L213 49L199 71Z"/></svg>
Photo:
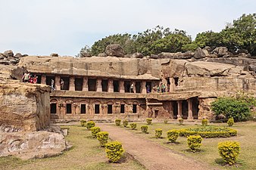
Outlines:
<svg viewBox="0 0 256 170"><path fill-rule="evenodd" d="M226 118L233 118L235 122L245 121L251 117L248 103L236 97L217 98L211 103L211 109L216 116L223 114Z"/></svg>

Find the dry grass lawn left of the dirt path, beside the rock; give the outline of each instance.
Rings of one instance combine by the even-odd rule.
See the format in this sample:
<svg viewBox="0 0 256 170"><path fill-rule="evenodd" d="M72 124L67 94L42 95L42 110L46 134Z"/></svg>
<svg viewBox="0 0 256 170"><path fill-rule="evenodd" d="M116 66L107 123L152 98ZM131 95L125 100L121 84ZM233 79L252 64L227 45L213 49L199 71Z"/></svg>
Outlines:
<svg viewBox="0 0 256 170"><path fill-rule="evenodd" d="M65 151L61 156L45 159L21 160L13 156L0 158L0 169L145 169L129 155L124 156L120 163L109 163L105 149L99 147L97 139L92 138L91 131L81 126L69 127L67 141L73 145L71 150Z"/></svg>

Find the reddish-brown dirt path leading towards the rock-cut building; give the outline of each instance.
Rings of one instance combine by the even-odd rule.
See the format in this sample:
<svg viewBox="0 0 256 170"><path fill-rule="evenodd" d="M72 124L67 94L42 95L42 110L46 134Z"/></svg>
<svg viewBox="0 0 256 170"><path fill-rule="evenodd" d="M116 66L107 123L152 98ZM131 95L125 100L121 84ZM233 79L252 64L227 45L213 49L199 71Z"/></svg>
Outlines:
<svg viewBox="0 0 256 170"><path fill-rule="evenodd" d="M161 147L155 142L148 141L144 138L132 134L130 131L125 131L122 128L107 124L98 124L102 131L108 131L109 137L112 140L122 142L124 150L130 153L148 170L206 170L207 165L201 165L186 156L179 153L174 153L172 150Z"/></svg>

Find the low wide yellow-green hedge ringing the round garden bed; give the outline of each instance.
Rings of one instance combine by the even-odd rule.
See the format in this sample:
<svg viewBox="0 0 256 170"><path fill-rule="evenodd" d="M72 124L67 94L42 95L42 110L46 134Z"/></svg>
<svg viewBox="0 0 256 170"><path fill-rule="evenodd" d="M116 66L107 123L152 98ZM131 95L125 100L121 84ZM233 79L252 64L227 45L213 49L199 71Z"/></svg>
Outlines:
<svg viewBox="0 0 256 170"><path fill-rule="evenodd" d="M180 136L189 136L198 134L202 138L229 138L236 136L237 131L232 128L219 126L201 126L199 128L183 128L180 129Z"/></svg>

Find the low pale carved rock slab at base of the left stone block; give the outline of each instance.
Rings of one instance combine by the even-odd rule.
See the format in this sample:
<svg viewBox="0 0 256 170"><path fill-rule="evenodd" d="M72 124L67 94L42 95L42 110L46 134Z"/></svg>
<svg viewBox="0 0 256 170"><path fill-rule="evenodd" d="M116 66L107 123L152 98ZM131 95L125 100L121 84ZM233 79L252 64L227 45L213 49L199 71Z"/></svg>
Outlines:
<svg viewBox="0 0 256 170"><path fill-rule="evenodd" d="M17 156L21 159L57 156L70 146L63 134L36 131L0 133L0 156Z"/></svg>

